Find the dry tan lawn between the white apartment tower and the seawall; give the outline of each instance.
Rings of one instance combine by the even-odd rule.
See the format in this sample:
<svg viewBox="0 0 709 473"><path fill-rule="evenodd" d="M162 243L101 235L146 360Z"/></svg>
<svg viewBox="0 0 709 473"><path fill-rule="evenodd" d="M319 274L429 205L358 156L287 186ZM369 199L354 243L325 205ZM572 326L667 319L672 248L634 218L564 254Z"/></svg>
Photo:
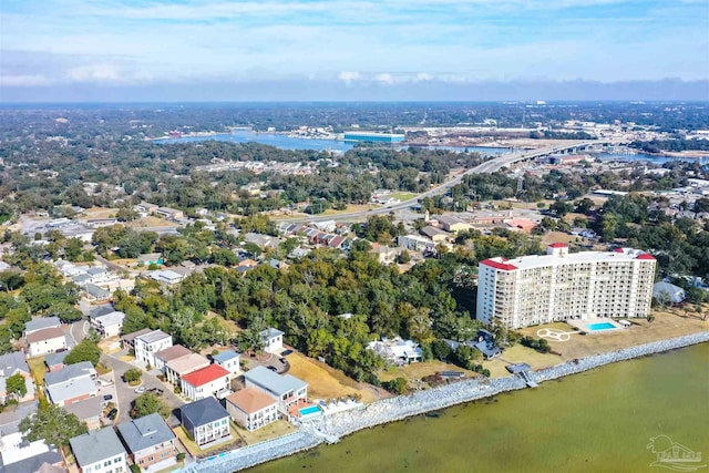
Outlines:
<svg viewBox="0 0 709 473"><path fill-rule="evenodd" d="M706 310L706 308L703 310ZM653 323L649 323L646 319L630 319L633 327L629 329L609 330L586 336L573 335L571 340L565 342L549 340L549 346L552 350L562 353L562 357L559 357L561 360L573 360L590 354L618 350L620 348L709 330L709 321L702 321L698 313L692 310L689 310L687 313L685 313L684 309L654 311L653 313L655 315L655 321ZM571 326L566 323L528 327L520 331L523 335L536 338L537 330L547 327L559 328L569 332L573 331ZM506 353L507 351L505 351L502 357L505 358Z"/></svg>

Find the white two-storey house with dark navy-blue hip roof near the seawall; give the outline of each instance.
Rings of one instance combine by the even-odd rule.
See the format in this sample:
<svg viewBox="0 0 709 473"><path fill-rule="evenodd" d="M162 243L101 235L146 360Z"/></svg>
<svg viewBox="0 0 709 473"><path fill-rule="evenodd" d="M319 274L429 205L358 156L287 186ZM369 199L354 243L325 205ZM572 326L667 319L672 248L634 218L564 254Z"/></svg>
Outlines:
<svg viewBox="0 0 709 473"><path fill-rule="evenodd" d="M182 424L202 448L232 440L229 413L214 398L204 398L179 408Z"/></svg>

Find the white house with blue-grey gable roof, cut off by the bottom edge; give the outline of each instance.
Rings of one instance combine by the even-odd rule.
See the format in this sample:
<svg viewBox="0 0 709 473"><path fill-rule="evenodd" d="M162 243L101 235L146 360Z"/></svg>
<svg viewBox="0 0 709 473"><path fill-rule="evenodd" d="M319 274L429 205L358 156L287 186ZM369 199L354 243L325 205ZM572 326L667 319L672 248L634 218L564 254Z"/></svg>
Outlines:
<svg viewBox="0 0 709 473"><path fill-rule="evenodd" d="M126 473L127 453L113 428L94 430L69 440L79 473Z"/></svg>

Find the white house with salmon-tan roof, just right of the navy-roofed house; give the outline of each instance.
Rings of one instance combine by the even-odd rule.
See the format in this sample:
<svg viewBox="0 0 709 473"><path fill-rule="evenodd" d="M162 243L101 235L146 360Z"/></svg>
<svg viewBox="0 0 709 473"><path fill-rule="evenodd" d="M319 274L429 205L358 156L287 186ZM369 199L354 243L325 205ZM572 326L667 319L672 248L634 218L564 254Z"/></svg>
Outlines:
<svg viewBox="0 0 709 473"><path fill-rule="evenodd" d="M227 395L226 410L237 424L250 432L279 417L276 400L258 388L245 388Z"/></svg>

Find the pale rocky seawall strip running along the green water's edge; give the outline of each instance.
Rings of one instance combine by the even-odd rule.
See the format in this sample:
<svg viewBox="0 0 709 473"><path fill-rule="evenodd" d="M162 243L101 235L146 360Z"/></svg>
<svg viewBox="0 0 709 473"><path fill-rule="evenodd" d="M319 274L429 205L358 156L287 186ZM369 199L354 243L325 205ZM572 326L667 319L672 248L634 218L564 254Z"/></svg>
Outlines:
<svg viewBox="0 0 709 473"><path fill-rule="evenodd" d="M709 341L709 331L692 333L567 361L531 372L530 376L533 381L541 383L617 361L675 350L707 341ZM372 402L357 411L342 412L327 418L319 418L319 420L314 422L304 423L301 429L296 433L193 463L182 469L181 472L196 473L209 471L215 473L229 473L240 471L259 463L309 450L325 442L326 435L340 438L362 429L400 421L412 415L438 411L455 404L524 388L526 388L526 383L522 378L510 376L495 379L464 380L427 391L418 391L410 395L384 399Z"/></svg>

